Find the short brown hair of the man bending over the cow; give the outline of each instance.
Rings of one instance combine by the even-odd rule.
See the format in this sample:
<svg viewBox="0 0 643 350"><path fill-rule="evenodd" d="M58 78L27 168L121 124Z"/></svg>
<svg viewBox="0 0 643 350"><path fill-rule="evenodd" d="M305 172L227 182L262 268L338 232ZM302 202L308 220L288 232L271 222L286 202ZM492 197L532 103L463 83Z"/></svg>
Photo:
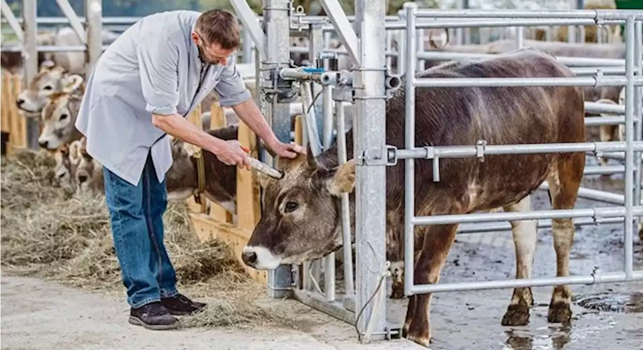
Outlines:
<svg viewBox="0 0 643 350"><path fill-rule="evenodd" d="M203 12L197 19L194 29L208 45L216 42L222 49L239 48L239 22L231 12L226 10Z"/></svg>

